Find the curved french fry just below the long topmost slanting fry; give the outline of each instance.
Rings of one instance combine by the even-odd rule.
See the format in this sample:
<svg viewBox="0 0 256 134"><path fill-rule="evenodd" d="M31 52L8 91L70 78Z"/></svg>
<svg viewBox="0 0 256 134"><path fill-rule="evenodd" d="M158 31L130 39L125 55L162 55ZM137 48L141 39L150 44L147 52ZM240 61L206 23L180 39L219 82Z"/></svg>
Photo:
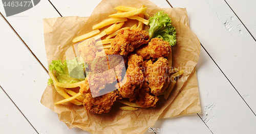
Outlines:
<svg viewBox="0 0 256 134"><path fill-rule="evenodd" d="M124 21L127 21L127 19L124 17L106 19L106 20L103 20L103 21L93 25L93 30L101 29L107 25L118 23L118 22L124 22Z"/></svg>

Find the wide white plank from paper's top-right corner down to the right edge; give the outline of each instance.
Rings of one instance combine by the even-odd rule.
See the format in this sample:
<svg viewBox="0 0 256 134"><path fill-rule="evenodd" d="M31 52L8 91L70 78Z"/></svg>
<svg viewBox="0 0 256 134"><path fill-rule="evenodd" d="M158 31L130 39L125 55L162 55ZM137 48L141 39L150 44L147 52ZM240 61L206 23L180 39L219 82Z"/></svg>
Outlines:
<svg viewBox="0 0 256 134"><path fill-rule="evenodd" d="M191 30L255 113L256 42L242 23L221 0L168 2L187 9Z"/></svg>

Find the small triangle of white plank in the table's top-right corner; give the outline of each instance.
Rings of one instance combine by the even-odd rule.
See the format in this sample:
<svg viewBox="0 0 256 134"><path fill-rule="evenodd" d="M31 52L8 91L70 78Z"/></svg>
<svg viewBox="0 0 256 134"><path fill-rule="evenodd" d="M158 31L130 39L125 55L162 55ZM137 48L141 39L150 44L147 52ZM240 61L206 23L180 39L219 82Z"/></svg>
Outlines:
<svg viewBox="0 0 256 134"><path fill-rule="evenodd" d="M231 9L236 13L239 19L244 23L252 36L256 38L256 1L232 1L226 0Z"/></svg>

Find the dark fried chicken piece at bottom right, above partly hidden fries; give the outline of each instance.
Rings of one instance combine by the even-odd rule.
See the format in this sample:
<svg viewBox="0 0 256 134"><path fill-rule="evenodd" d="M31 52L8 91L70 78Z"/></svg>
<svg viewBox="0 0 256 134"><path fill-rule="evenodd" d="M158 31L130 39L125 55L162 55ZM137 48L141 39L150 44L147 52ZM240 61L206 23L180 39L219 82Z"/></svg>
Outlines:
<svg viewBox="0 0 256 134"><path fill-rule="evenodd" d="M157 96L150 94L150 88L146 82L143 83L142 88L137 92L136 103L142 108L156 107L156 102L159 100Z"/></svg>

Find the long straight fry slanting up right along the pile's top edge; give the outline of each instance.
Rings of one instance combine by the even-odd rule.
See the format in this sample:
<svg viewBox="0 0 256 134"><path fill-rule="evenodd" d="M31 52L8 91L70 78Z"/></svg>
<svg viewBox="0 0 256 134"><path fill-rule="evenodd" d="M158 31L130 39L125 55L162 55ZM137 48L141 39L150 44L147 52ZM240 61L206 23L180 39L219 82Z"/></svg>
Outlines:
<svg viewBox="0 0 256 134"><path fill-rule="evenodd" d="M138 15L138 14L146 11L146 9L147 9L146 7L145 8L139 8L139 9L128 11L128 12L112 14L112 15L109 15L109 17L127 18L129 16Z"/></svg>

